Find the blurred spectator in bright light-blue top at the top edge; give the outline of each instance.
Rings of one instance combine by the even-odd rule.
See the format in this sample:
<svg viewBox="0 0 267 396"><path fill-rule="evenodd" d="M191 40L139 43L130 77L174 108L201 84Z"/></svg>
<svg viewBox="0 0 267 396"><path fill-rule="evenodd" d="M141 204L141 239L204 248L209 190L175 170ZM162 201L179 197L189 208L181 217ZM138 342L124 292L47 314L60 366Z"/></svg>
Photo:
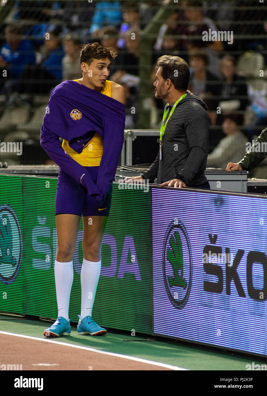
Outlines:
<svg viewBox="0 0 267 396"><path fill-rule="evenodd" d="M97 35L104 25L119 27L122 20L121 3L119 1L100 1L92 17L90 34Z"/></svg>

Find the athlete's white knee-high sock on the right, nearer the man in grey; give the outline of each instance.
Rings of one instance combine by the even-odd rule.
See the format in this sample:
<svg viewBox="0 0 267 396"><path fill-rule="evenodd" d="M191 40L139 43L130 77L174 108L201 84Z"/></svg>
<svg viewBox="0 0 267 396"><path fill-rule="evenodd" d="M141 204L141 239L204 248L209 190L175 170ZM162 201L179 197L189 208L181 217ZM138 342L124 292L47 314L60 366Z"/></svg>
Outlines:
<svg viewBox="0 0 267 396"><path fill-rule="evenodd" d="M83 259L81 270L81 320L85 316L92 316L96 288L100 276L101 260L88 261Z"/></svg>

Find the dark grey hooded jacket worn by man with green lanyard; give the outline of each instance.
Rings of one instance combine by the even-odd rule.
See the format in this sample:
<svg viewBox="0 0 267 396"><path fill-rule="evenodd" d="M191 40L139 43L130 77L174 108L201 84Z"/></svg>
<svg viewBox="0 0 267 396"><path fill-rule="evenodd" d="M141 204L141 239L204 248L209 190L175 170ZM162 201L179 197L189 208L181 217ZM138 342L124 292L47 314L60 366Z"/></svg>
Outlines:
<svg viewBox="0 0 267 396"><path fill-rule="evenodd" d="M187 91L176 106L162 138L159 153L150 168L142 175L149 183L164 183L181 179L186 187L198 187L207 181L204 175L208 154L209 116L207 105L198 96ZM174 103L167 108L165 122ZM165 111L164 109L164 111Z"/></svg>

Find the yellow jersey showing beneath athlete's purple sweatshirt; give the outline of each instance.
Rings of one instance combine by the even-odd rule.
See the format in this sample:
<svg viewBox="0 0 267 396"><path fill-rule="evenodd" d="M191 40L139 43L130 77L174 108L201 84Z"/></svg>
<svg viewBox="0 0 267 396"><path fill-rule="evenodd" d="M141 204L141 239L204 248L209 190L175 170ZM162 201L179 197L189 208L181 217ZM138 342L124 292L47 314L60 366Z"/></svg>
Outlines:
<svg viewBox="0 0 267 396"><path fill-rule="evenodd" d="M79 84L78 80L76 81ZM101 89L101 93L111 97L111 81L106 80L103 88ZM83 148L83 151L78 154L71 147L69 147L69 143L67 140L63 140L62 147L73 160L78 162L78 164L82 166L99 166L100 161L103 154L103 142L100 135L96 132L92 139L88 141L86 146Z"/></svg>

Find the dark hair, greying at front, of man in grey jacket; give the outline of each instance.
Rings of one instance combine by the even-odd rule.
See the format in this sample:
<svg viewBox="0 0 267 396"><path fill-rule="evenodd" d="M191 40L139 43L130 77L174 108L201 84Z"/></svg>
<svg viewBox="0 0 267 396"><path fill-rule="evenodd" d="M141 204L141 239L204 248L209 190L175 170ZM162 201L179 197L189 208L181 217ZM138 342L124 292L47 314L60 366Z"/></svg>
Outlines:
<svg viewBox="0 0 267 396"><path fill-rule="evenodd" d="M186 91L190 77L189 66L179 56L163 55L158 58L156 67L161 67L161 76L169 78L177 91Z"/></svg>

